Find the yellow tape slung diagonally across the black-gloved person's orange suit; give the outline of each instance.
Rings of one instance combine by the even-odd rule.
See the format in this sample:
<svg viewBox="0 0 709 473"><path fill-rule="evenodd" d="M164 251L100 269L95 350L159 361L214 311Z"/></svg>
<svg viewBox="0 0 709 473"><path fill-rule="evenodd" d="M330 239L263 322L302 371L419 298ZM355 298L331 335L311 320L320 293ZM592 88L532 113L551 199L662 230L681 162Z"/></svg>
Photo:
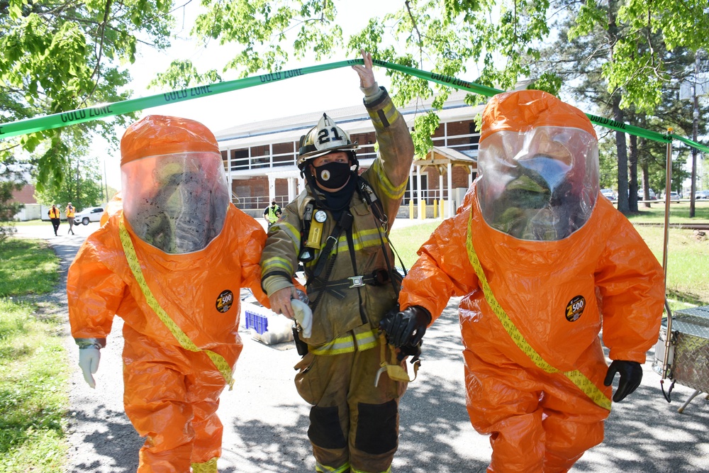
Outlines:
<svg viewBox="0 0 709 473"><path fill-rule="evenodd" d="M485 277L485 272L483 270L482 265L480 264L480 260L478 259L478 255L475 252L475 248L473 247L472 222L473 213L470 212L470 216L468 218L468 235L465 241L465 246L468 252L470 264L472 265L473 269L475 269L475 274L477 274L481 289L483 290L485 301L488 303L493 313L495 313L498 320L500 321L508 335L510 335L510 338L512 338L512 341L515 343L515 345L517 345L518 348L522 350L522 352L527 355L527 357L532 360L532 362L538 368L542 369L547 373L560 372L559 369L553 367L544 358L542 358L542 355L537 353L537 350L535 350L532 345L527 342L525 336L517 328L517 325L515 325L510 316L507 315L505 309L503 309L500 303L497 301L495 294L493 294L492 288L490 287L490 284L488 283L487 278ZM574 371L562 372L562 374L564 374L565 377L567 377L569 380L571 380L572 383L574 383L579 389L581 389L581 391L583 391L584 394L586 394L586 396L591 399L591 401L593 401L598 406L601 406L602 408L608 409L608 411L610 411L610 399L608 399L608 396L606 396L605 393L601 391L601 389L598 389L598 386L596 386L596 384L593 384L591 379L588 379L585 374L581 373L578 369L574 369Z"/></svg>

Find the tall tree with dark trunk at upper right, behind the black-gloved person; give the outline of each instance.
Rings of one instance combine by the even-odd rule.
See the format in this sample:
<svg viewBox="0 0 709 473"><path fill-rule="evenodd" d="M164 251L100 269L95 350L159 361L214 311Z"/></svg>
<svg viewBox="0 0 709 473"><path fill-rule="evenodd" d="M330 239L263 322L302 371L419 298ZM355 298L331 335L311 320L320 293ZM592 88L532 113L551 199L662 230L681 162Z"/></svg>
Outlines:
<svg viewBox="0 0 709 473"><path fill-rule="evenodd" d="M691 113L687 115L676 100L676 84L687 74L687 58L693 57L691 48L697 48L700 42L694 32L677 35L672 28L686 23L699 31L709 27L700 4L689 2L686 11L684 6L659 11L656 4L635 0L586 2L580 6L569 2L557 21L559 40L543 52L546 67L540 72L559 74L566 91L601 116L640 128L671 127L681 133L687 130L686 118ZM658 17L668 24L658 23ZM669 110L673 113L666 113ZM651 174L648 165L655 163L664 169L664 160L656 162L647 152L657 143L634 135L628 143L625 133L613 133L618 208L637 211L637 166L643 169L642 189L647 193L647 177Z"/></svg>

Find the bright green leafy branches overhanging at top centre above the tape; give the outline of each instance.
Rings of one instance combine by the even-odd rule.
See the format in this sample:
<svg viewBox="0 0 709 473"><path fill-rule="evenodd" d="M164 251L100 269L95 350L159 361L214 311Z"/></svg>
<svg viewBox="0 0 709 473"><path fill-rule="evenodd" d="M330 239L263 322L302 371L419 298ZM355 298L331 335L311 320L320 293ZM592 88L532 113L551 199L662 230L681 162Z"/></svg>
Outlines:
<svg viewBox="0 0 709 473"><path fill-rule="evenodd" d="M224 69L235 69L242 77L284 69L289 60L311 58L322 61L342 55L357 55L360 48L379 60L417 67L459 77L480 65L475 77L481 84L509 89L530 64L520 60L534 57L532 42L549 33L547 0L479 2L477 0L406 0L394 13L376 16L358 33L344 38L334 0L234 0L204 2L205 13L196 19L192 34L207 43L218 40L234 45L235 55ZM504 57L498 61L496 58ZM207 74L213 74L208 72ZM394 101L408 104L414 99L437 97L432 109L415 121L417 155L430 148L430 136L439 124L435 113L450 89L432 86L401 72L388 70ZM189 61L175 62L162 84L195 84L205 74L196 72ZM482 97L469 96L469 103Z"/></svg>

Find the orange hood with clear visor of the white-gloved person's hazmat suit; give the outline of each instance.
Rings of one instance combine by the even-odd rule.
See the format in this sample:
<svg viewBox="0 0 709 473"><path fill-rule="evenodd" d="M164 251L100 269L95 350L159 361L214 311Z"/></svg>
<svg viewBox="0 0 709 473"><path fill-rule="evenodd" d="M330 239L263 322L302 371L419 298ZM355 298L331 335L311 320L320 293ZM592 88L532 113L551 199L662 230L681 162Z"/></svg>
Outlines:
<svg viewBox="0 0 709 473"><path fill-rule="evenodd" d="M123 215L159 250L203 250L221 231L229 189L216 138L187 118L150 115L121 138Z"/></svg>

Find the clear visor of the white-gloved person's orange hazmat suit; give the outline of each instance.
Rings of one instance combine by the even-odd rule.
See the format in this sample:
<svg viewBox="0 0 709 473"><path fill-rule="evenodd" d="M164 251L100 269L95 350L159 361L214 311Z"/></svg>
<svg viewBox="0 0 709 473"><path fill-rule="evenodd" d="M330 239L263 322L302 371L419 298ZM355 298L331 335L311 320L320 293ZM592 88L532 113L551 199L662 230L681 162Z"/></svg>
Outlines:
<svg viewBox="0 0 709 473"><path fill-rule="evenodd" d="M123 215L145 243L183 254L221 232L229 193L218 153L143 157L123 164L121 174Z"/></svg>

